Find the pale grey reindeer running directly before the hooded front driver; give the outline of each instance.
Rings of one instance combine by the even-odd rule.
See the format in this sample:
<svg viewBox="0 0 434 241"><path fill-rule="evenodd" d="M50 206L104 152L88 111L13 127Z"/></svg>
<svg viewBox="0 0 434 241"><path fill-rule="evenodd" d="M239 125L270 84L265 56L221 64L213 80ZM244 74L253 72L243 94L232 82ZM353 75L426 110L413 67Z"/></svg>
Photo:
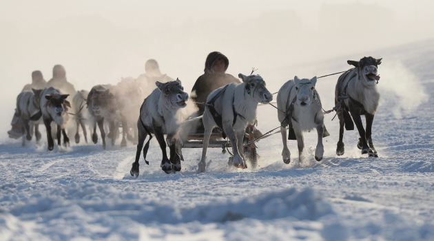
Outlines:
<svg viewBox="0 0 434 241"><path fill-rule="evenodd" d="M240 84L231 83L220 97L214 102L214 109L223 119L223 131L227 134L234 149L234 167L246 168L244 154L242 154L242 140L247 123L253 124L256 120L256 108L258 103L267 104L273 100L273 95L265 87L265 81L259 75L245 76ZM225 87L220 87L209 94L207 103ZM233 107L233 108L232 108ZM234 111L236 116L234 116ZM234 122L235 120L235 122ZM205 172L205 157L209 145L209 136L212 129L218 125L210 112L209 106L205 107L203 114L205 134L203 139L202 158L198 164L198 171Z"/></svg>

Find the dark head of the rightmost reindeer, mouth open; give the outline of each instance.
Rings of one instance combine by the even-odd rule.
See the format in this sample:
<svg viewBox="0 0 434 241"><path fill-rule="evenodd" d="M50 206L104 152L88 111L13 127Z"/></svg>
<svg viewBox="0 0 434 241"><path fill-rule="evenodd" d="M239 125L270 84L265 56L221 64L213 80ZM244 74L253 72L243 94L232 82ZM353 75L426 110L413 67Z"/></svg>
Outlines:
<svg viewBox="0 0 434 241"><path fill-rule="evenodd" d="M378 76L378 65L382 59L374 59L373 57L363 57L360 61L347 61L349 65L358 67L359 79L366 85L375 85L380 80Z"/></svg>

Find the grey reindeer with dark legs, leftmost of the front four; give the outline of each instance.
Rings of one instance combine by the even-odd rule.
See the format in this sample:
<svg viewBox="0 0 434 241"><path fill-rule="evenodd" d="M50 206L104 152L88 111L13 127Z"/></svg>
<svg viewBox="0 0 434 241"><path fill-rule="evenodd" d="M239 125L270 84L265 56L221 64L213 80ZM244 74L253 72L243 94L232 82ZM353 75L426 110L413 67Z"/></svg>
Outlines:
<svg viewBox="0 0 434 241"><path fill-rule="evenodd" d="M136 152L136 160L132 164L130 171L131 176L138 176L139 165L138 160L143 149L143 158L145 163L149 165L146 160L147 150L149 148L149 140L155 134L158 144L160 144L161 151L163 152L163 160L161 160L161 169L166 174L172 171L180 171L180 156L176 151L176 140L182 121L181 113L178 112L180 108L187 106L188 94L185 93L181 81L177 78L176 81L169 81L161 83L156 81L157 88L145 98L140 109L140 116L137 121L138 129L138 144ZM149 135L145 148L143 143L146 136ZM167 135L168 145L170 149L170 156L167 158L166 142L164 135Z"/></svg>

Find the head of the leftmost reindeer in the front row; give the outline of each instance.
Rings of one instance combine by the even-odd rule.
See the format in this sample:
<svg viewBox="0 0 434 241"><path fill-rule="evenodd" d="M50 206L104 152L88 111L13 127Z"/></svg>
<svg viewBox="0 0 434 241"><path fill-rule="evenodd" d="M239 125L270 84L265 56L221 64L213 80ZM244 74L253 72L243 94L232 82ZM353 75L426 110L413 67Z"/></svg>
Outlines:
<svg viewBox="0 0 434 241"><path fill-rule="evenodd" d="M176 81L169 81L167 83L156 81L155 85L161 91L161 96L165 99L165 103L169 105L167 107L178 109L187 106L188 94L184 92L184 87L178 78L176 78Z"/></svg>

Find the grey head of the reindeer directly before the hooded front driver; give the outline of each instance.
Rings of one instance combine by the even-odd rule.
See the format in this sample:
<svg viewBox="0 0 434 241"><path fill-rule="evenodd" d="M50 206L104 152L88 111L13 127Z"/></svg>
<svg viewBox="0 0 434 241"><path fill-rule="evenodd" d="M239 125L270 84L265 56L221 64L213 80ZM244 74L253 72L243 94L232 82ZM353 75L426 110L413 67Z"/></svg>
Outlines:
<svg viewBox="0 0 434 241"><path fill-rule="evenodd" d="M265 87L265 81L259 74L245 76L238 74L238 77L245 83L245 91L258 103L268 104L273 101L273 95Z"/></svg>

